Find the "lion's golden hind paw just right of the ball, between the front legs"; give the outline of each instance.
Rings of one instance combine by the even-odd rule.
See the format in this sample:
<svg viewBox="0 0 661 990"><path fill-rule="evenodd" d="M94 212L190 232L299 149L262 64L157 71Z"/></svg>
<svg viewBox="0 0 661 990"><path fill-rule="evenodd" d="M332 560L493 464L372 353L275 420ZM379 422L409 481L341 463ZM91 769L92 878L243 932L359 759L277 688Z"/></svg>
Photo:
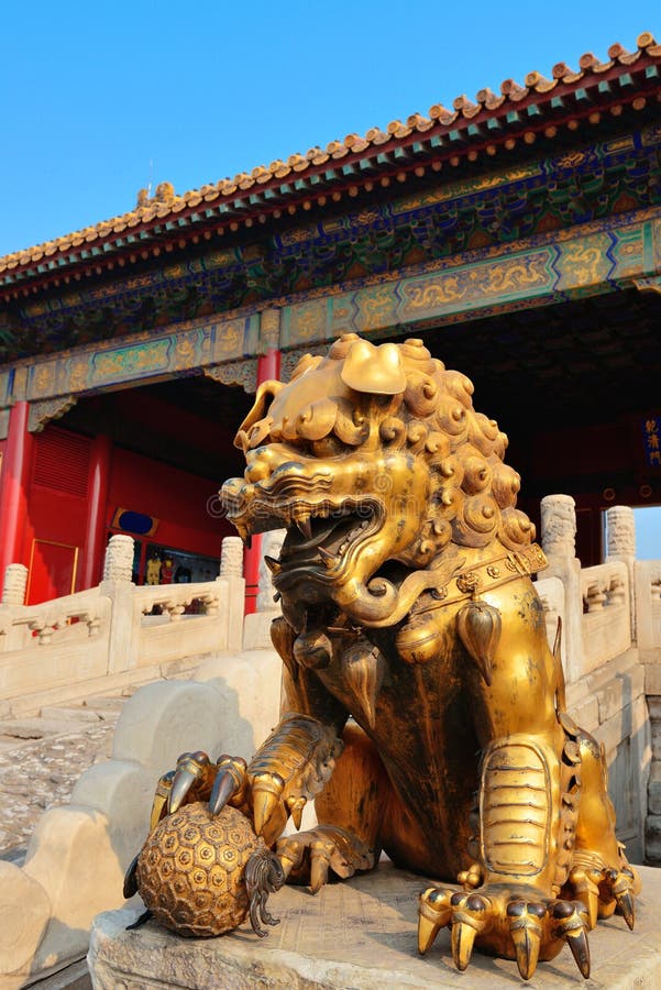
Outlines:
<svg viewBox="0 0 661 990"><path fill-rule="evenodd" d="M329 871L345 880L356 870L371 870L374 853L355 835L334 825L317 825L280 838L276 851L289 882L309 883L317 893L328 882Z"/></svg>

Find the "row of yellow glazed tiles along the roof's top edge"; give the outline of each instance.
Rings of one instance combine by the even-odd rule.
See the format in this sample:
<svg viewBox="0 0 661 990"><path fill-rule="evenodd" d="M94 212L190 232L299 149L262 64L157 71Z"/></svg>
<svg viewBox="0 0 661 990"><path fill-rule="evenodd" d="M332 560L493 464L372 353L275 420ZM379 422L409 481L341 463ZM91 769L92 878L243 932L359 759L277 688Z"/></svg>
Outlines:
<svg viewBox="0 0 661 990"><path fill-rule="evenodd" d="M593 77L603 77L608 73L621 76L625 68L636 67L636 64L641 61L649 66L657 59L661 63L661 44L658 44L651 34L643 33L639 35L637 48L634 52L628 52L620 44L612 45L608 50L607 62L601 62L596 55L587 52L579 59L577 70L572 69L564 62L559 62L552 68L551 78L547 78L538 72L531 72L526 76L524 85L515 79L505 79L500 85L499 95L485 88L475 95L475 100L469 99L465 95L458 96L452 103L452 109L441 103L434 103L429 109L428 117L412 113L405 121L392 121L385 130L372 128L364 136L348 134L343 141L331 141L326 148L315 146L306 154L295 153L286 161L276 160L269 165L257 165L250 173L242 172L233 178L203 185L199 189L191 189L180 196L175 194L169 183L162 183L152 199L148 198L146 190L141 190L136 207L130 212L0 257L0 285L14 282L12 275L20 272L24 272L26 275L45 274L81 260L98 260L119 246L125 246L118 244L117 235L139 228L144 230L155 221L173 220L183 212L190 216L197 207L201 207L203 210L214 206L222 212L230 213L245 205L262 209L265 190L283 180L288 180L289 184L294 183L293 191L300 191L297 189L297 180L304 180L299 185L305 186L309 195L310 190L305 179L320 166L328 165L332 168L346 158L354 160L356 155L364 155L365 158L376 158L376 168L378 169L378 166L384 164L379 162L379 150L385 145L388 145L389 152L394 148L396 157L397 143L407 142L407 139L417 134L429 138L431 131L439 136L438 144L440 145L442 135L447 134L453 125L456 129L462 124L465 127L466 121L473 122L478 119L482 121L488 117L516 114L522 101L533 102L536 95L542 97L544 101L548 101L553 92L557 92L561 99L571 96L576 98L583 91L579 87L580 82L583 82L584 87L588 87L591 84L594 86L596 78ZM652 75L658 78L658 69ZM607 90L608 84L606 82L605 86ZM465 142L471 142L477 132L477 128L473 134L470 130L464 131L462 138L465 139ZM452 131L452 134L456 133L456 130ZM326 175L328 176L328 173ZM324 188L322 179L320 187L317 191L322 191ZM181 222L185 224L185 221L180 220L179 223ZM169 228L169 223L167 226ZM71 256L74 252L75 256Z"/></svg>

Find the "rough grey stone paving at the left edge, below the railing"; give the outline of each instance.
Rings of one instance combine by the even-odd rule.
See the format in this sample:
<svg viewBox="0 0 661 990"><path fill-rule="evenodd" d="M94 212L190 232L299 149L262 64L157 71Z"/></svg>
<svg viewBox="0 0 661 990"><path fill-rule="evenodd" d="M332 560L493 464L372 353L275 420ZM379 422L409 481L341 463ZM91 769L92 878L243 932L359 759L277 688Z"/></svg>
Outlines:
<svg viewBox="0 0 661 990"><path fill-rule="evenodd" d="M43 812L66 804L84 770L106 760L115 718L73 723L41 739L3 737L0 748L0 857L26 846Z"/></svg>

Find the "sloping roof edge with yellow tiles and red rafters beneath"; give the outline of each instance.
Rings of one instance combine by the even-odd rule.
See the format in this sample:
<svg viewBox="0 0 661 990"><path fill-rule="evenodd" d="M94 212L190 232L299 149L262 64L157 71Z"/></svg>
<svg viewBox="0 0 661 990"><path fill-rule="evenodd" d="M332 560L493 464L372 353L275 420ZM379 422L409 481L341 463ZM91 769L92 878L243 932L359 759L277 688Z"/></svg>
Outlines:
<svg viewBox="0 0 661 990"><path fill-rule="evenodd" d="M561 62L550 77L532 72L524 84L506 79L499 94L487 88L474 100L459 96L452 109L437 103L427 117L414 113L385 130L349 134L326 148L312 147L180 196L163 183L153 198L141 190L135 209L121 217L1 257L0 292L18 298L27 284L35 290L38 284L68 282L73 267L76 277L98 275L118 256L146 260L169 245L181 249L225 229L338 204L390 182L420 178L428 169L488 160L535 143L540 133L552 139L560 128L594 127L625 108L637 111L648 99L659 100L660 67L661 44L645 33L634 52L615 44L605 62L587 53L576 69Z"/></svg>

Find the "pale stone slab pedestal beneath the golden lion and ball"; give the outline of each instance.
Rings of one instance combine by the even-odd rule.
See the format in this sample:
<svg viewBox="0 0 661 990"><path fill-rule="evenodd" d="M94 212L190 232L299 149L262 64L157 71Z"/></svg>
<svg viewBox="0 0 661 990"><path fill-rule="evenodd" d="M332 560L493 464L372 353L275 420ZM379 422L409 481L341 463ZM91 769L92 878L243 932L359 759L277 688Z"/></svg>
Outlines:
<svg viewBox="0 0 661 990"><path fill-rule="evenodd" d="M625 990L661 986L661 870L641 870L636 930L621 917L602 922L590 936L590 986ZM376 873L323 888L317 897L286 887L269 910L280 919L267 938L249 924L220 938L181 938L155 922L126 932L136 917L124 909L100 914L93 925L89 967L96 990L382 990L454 987L511 990L524 986L515 963L475 952L466 972L452 964L449 933L427 956L416 949L417 898L423 878L382 864ZM540 963L531 988L585 986L569 948Z"/></svg>

